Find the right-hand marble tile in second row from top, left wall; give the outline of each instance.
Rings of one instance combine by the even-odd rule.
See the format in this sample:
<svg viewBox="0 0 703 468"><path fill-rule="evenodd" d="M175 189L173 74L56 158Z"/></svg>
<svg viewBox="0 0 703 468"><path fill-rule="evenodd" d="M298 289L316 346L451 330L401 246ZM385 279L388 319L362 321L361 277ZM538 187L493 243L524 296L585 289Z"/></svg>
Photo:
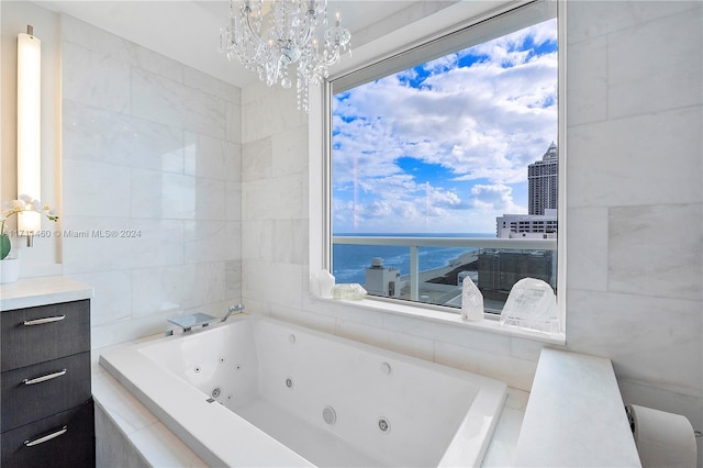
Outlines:
<svg viewBox="0 0 703 468"><path fill-rule="evenodd" d="M132 69L132 113L216 138L225 137L223 101L158 75Z"/></svg>

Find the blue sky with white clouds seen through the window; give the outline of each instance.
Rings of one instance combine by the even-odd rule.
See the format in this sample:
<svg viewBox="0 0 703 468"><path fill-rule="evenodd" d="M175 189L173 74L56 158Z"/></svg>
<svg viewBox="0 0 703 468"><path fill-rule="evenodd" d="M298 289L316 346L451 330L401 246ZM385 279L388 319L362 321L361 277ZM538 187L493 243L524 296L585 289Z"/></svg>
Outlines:
<svg viewBox="0 0 703 468"><path fill-rule="evenodd" d="M546 21L335 96L335 233L492 233L557 140Z"/></svg>

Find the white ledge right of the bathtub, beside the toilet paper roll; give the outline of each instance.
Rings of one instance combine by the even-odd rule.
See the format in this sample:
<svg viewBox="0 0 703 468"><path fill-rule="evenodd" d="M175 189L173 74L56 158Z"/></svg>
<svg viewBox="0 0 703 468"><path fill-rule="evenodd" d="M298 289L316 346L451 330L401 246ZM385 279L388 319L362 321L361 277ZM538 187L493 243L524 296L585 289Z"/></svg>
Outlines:
<svg viewBox="0 0 703 468"><path fill-rule="evenodd" d="M641 466L610 359L542 350L514 466Z"/></svg>

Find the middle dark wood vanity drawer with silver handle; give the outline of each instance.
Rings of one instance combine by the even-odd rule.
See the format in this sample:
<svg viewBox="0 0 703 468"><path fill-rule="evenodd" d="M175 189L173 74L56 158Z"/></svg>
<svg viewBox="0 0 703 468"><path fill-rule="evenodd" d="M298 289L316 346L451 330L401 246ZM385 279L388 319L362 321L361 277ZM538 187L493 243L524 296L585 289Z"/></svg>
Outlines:
<svg viewBox="0 0 703 468"><path fill-rule="evenodd" d="M2 432L88 400L90 352L2 372Z"/></svg>

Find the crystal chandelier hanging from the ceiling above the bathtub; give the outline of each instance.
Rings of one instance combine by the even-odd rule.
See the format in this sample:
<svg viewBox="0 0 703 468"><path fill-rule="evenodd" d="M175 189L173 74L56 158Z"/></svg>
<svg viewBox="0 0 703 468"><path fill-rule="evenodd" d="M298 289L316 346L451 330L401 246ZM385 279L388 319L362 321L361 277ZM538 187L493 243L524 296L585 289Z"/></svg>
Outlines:
<svg viewBox="0 0 703 468"><path fill-rule="evenodd" d="M352 35L327 26L327 0L231 0L230 24L220 30L220 51L237 58L261 81L290 88L289 65L298 63L298 109L308 112L308 87L327 77ZM320 37L319 37L320 36Z"/></svg>

